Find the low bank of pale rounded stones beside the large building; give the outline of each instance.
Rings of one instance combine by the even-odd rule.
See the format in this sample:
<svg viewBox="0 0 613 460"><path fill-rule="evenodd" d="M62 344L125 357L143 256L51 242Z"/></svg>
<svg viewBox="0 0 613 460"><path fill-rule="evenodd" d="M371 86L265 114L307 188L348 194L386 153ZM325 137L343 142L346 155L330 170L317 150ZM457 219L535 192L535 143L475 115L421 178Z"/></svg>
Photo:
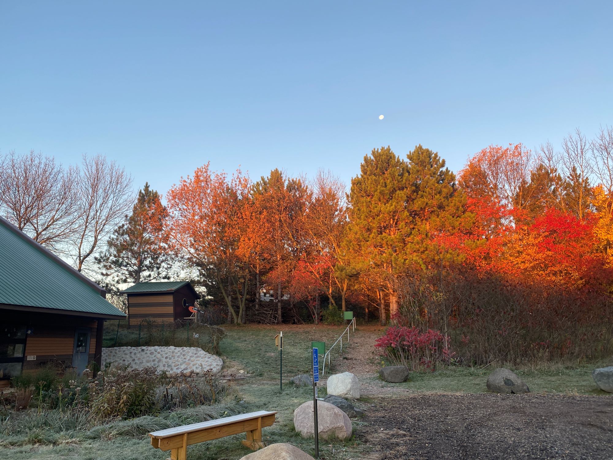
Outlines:
<svg viewBox="0 0 613 460"><path fill-rule="evenodd" d="M210 355L196 347L115 347L102 348L102 368L109 362L112 366L130 366L132 369L157 367L170 375L211 370L218 374L223 366L219 356Z"/></svg>

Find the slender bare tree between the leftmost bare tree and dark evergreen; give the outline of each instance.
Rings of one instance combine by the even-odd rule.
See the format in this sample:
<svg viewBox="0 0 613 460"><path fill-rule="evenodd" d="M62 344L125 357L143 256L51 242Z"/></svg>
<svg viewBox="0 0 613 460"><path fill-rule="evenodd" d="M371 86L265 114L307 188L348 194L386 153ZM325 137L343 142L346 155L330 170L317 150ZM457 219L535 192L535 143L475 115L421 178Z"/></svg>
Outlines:
<svg viewBox="0 0 613 460"><path fill-rule="evenodd" d="M132 177L103 155L83 155L78 190L81 201L74 247L75 265L81 271L132 207L134 193Z"/></svg>

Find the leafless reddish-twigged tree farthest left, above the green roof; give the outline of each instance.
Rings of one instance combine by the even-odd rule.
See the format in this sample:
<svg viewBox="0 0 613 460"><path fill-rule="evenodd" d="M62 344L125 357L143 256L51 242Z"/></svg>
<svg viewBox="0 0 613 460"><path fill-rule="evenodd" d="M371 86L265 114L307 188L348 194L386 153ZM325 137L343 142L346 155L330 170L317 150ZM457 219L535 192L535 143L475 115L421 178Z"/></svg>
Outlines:
<svg viewBox="0 0 613 460"><path fill-rule="evenodd" d="M77 230L78 171L53 157L14 151L0 163L0 210L18 229L58 253Z"/></svg>

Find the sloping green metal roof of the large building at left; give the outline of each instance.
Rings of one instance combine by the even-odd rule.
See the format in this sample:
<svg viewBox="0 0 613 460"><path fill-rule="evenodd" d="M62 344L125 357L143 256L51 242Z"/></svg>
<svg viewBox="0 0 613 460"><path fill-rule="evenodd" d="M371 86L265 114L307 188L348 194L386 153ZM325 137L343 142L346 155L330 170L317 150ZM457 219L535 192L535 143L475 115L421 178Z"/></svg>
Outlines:
<svg viewBox="0 0 613 460"><path fill-rule="evenodd" d="M104 293L0 217L0 304L91 313L94 317L126 316L102 297Z"/></svg>

